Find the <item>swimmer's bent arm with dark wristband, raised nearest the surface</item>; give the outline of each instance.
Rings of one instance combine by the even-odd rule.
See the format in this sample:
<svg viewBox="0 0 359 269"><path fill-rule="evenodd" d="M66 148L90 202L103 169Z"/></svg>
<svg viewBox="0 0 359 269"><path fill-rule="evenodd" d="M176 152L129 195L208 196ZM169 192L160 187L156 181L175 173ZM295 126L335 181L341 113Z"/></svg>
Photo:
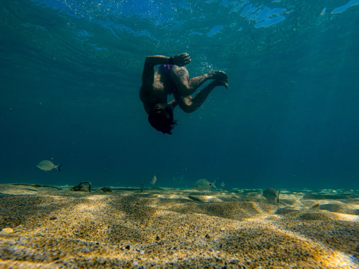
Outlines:
<svg viewBox="0 0 359 269"><path fill-rule="evenodd" d="M144 71L142 72L142 85L144 87L152 87L155 79L156 65L177 65L183 67L191 62L190 56L187 53L175 55L173 57L166 57L161 55L147 56L144 61Z"/></svg>

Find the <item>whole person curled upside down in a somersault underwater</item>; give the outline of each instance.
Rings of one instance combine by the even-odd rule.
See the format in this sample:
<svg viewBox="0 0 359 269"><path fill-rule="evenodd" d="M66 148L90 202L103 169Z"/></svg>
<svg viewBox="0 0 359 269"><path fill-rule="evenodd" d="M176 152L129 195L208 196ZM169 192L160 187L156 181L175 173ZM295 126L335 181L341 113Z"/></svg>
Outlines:
<svg viewBox="0 0 359 269"><path fill-rule="evenodd" d="M195 111L206 100L216 86L227 89L228 75L222 71L211 70L202 76L189 78L185 65L191 62L187 53L166 56L148 56L144 62L140 99L152 127L163 134L172 134L176 121L173 109L179 107L186 113ZM161 65L154 69L156 65ZM197 94L191 95L207 80L214 80ZM173 94L173 101L167 103L168 95Z"/></svg>

